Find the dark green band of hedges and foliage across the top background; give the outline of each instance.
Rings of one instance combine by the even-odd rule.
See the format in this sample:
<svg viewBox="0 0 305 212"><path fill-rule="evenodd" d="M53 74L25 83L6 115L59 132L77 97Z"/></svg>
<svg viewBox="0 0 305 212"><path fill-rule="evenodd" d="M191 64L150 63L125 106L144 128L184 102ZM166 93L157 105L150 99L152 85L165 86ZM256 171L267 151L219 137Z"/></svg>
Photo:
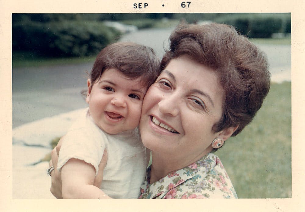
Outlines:
<svg viewBox="0 0 305 212"><path fill-rule="evenodd" d="M122 33L105 26L105 20L151 28L156 20L189 23L210 20L234 26L250 38L291 33L290 13L113 13L113 14L13 14L12 49L35 56L89 56L117 40Z"/></svg>

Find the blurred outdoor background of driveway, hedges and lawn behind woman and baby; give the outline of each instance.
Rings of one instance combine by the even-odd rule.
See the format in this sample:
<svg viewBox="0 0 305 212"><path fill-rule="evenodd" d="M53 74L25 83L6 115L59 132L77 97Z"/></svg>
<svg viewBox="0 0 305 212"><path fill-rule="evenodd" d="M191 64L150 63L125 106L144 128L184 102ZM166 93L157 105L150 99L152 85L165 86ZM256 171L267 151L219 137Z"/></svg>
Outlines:
<svg viewBox="0 0 305 212"><path fill-rule="evenodd" d="M13 198L52 198L49 152L77 110L99 51L116 41L161 59L180 23L225 23L267 53L271 90L253 122L216 152L239 198L291 197L291 14L12 14Z"/></svg>

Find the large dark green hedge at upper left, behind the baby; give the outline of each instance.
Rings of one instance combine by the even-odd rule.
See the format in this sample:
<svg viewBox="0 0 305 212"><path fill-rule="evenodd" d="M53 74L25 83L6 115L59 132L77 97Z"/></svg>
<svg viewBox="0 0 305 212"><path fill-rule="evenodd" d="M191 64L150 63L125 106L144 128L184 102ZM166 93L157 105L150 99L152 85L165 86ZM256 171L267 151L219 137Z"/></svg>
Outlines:
<svg viewBox="0 0 305 212"><path fill-rule="evenodd" d="M13 22L12 48L37 56L89 56L114 42L119 35L120 32L100 21L22 19Z"/></svg>

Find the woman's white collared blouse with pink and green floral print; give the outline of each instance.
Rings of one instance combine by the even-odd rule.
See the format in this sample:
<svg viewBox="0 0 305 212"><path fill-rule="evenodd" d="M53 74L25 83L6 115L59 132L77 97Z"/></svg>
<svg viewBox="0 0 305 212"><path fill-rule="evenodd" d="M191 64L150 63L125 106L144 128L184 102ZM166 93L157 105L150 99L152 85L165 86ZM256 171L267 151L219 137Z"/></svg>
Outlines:
<svg viewBox="0 0 305 212"><path fill-rule="evenodd" d="M224 166L212 153L152 184L149 184L150 172L151 166L147 169L139 198L237 198Z"/></svg>

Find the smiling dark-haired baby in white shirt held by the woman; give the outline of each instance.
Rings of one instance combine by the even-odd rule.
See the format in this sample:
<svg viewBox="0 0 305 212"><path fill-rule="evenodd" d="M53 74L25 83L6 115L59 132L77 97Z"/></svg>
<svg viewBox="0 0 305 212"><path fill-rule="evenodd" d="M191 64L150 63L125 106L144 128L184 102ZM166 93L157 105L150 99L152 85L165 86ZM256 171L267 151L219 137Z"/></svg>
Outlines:
<svg viewBox="0 0 305 212"><path fill-rule="evenodd" d="M96 57L87 80L80 118L63 137L58 170L63 198L138 198L146 172L146 151L138 132L142 102L160 74L149 47L120 42ZM93 186L104 149L102 185Z"/></svg>

